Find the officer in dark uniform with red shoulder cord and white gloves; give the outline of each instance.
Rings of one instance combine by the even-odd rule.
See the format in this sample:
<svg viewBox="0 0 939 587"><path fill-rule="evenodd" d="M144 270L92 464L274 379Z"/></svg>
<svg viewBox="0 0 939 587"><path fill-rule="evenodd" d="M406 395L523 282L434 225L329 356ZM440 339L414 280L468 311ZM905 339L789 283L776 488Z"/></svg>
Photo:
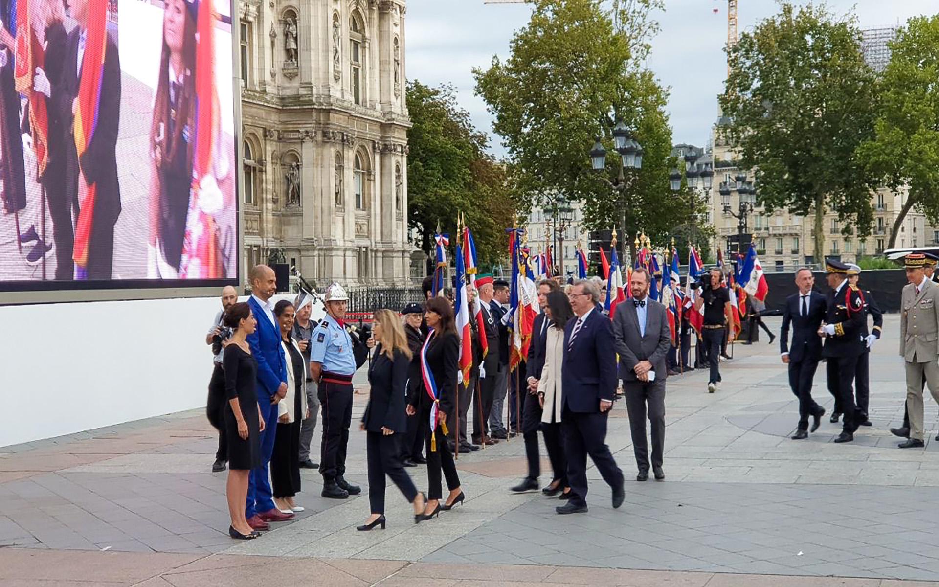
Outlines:
<svg viewBox="0 0 939 587"><path fill-rule="evenodd" d="M867 322L864 294L848 284L848 266L837 259L825 259L828 286L827 311L819 336L824 337L822 356L827 361L828 391L835 395L836 414L844 414L844 425L836 442L851 442L857 426L866 417L854 405L851 383L857 370L857 360L867 349L861 340L861 329Z"/></svg>

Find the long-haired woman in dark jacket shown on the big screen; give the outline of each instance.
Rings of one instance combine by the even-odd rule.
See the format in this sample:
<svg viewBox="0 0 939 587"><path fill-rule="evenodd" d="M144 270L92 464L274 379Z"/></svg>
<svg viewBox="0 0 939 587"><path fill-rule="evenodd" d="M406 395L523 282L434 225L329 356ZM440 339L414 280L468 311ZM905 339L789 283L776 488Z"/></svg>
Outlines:
<svg viewBox="0 0 939 587"><path fill-rule="evenodd" d="M160 76L150 124L150 278L176 279L182 265L195 145L197 9L198 3L187 0L166 0L163 9Z"/></svg>

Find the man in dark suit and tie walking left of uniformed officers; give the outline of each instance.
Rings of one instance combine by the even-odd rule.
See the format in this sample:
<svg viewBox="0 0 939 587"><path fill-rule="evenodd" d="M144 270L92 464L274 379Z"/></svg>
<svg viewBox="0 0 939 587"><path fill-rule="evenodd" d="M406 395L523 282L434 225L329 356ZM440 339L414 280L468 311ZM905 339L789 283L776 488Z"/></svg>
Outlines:
<svg viewBox="0 0 939 587"><path fill-rule="evenodd" d="M822 360L822 341L819 326L825 315L825 298L812 289L815 277L808 268L795 271L798 293L786 298L779 332L779 352L782 362L789 365L789 386L799 399L799 425L793 440L808 438L808 416L812 416L812 432L818 430L824 408L812 399L812 379ZM789 346L789 327L793 326L793 345Z"/></svg>

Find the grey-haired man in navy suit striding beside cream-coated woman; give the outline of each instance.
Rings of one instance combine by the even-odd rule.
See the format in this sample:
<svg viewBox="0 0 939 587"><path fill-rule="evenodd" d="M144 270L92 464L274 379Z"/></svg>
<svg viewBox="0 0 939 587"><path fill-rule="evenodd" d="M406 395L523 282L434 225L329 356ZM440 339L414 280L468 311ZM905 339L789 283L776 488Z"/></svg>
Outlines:
<svg viewBox="0 0 939 587"><path fill-rule="evenodd" d="M559 514L587 511L587 455L613 489L613 507L623 505L623 471L609 454L607 417L616 394L616 344L609 320L595 309L600 290L577 280L568 293L576 320L564 328L562 429L567 479L574 495Z"/></svg>

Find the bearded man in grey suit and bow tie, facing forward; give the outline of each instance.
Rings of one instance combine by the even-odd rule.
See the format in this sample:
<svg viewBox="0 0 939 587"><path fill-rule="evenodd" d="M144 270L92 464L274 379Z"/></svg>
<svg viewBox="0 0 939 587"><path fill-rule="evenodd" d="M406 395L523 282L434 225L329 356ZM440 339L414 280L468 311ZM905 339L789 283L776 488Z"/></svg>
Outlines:
<svg viewBox="0 0 939 587"><path fill-rule="evenodd" d="M643 268L633 270L629 289L633 294L616 306L613 337L620 355L620 378L629 412L633 452L639 466L637 481L649 479L649 447L645 420L648 405L652 427L652 469L656 481L665 479L662 454L665 449L665 378L669 375L666 357L671 346L668 310L649 299L651 276Z"/></svg>

